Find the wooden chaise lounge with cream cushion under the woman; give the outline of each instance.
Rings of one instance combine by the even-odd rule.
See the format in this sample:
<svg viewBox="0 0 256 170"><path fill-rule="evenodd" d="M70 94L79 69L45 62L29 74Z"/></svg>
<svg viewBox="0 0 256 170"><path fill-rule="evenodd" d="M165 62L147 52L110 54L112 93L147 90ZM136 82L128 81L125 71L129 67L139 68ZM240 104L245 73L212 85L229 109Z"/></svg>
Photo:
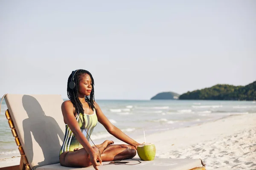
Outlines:
<svg viewBox="0 0 256 170"><path fill-rule="evenodd" d="M63 143L65 124L61 113L61 95L4 96L6 118L20 151L20 165L3 167L0 170L94 170L86 168L62 167L59 152ZM140 160L138 156L134 159ZM160 159L138 161L128 159L127 164L103 162L99 170L205 170L201 159ZM132 166L128 166L128 164Z"/></svg>

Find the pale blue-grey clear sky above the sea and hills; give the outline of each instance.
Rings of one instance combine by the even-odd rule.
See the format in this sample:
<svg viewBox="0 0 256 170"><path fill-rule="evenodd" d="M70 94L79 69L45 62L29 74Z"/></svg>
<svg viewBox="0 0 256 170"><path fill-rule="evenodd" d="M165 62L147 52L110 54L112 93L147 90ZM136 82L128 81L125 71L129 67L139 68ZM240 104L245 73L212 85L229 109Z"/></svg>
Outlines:
<svg viewBox="0 0 256 170"><path fill-rule="evenodd" d="M0 96L61 94L90 71L95 99L148 100L256 81L255 0L1 0Z"/></svg>

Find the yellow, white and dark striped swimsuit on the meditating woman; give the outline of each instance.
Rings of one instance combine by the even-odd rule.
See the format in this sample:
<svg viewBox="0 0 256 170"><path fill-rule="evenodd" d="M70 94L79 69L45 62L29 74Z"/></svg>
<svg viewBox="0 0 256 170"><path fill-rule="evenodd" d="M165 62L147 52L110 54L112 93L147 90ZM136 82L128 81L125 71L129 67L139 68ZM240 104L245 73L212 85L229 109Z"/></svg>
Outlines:
<svg viewBox="0 0 256 170"><path fill-rule="evenodd" d="M82 113L79 113L79 114L81 119L83 119ZM79 119L79 115L77 114L76 121L78 122L81 128L81 132L84 133L84 135L86 136L86 139L88 140L88 142L90 142L90 138L88 135L91 135L93 133L93 128L97 125L97 122L98 122L95 109L93 110L93 114L91 115L84 114L84 120L85 120L84 127L81 127L82 126L81 119ZM87 131L88 135L85 132L85 130ZM78 148L78 147L81 147L81 144L78 142L78 140L76 139L76 136L74 136L73 132L70 130L70 127L66 124L65 137L60 150L60 155L61 153L66 151L73 151L75 148Z"/></svg>

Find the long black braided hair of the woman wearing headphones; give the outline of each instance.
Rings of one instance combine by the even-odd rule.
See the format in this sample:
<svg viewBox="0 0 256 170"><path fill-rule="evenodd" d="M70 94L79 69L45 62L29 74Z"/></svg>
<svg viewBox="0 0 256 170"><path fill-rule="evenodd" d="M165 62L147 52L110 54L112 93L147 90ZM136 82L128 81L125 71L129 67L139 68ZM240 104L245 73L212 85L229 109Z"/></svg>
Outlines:
<svg viewBox="0 0 256 170"><path fill-rule="evenodd" d="M74 82L76 83L75 88L71 89L69 87L69 83L71 81L72 78L72 73L70 74L70 76L68 77L67 80L67 97L70 99L70 101L73 103L73 106L75 108L75 113L77 113L79 115L79 119L83 119L82 121L82 127L84 126L84 109L83 109L83 105L80 102L80 100L78 99L78 92L79 92L79 81L81 80L81 78L84 76L84 74L88 74L92 80L92 91L90 93L90 96L85 96L84 99L85 101L88 103L89 108L90 109L95 109L94 106L94 80L93 80L93 76L92 74L90 74L89 71L87 70L78 70L76 71L76 74L74 75ZM79 113L82 113L82 118L80 116Z"/></svg>

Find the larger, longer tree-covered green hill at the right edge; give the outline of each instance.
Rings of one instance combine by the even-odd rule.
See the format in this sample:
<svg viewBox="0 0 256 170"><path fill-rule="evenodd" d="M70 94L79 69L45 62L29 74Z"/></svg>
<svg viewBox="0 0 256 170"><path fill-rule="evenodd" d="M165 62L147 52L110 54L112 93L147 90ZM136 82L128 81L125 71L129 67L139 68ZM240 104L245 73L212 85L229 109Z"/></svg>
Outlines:
<svg viewBox="0 0 256 170"><path fill-rule="evenodd" d="M256 100L256 81L246 86L214 85L180 95L193 100Z"/></svg>

